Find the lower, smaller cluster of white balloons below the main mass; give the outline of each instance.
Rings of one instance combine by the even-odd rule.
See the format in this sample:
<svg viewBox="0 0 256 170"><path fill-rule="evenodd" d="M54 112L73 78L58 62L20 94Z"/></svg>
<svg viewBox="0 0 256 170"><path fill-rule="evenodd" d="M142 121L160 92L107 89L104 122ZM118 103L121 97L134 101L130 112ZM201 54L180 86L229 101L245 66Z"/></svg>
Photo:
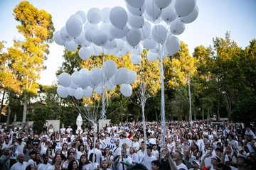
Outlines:
<svg viewBox="0 0 256 170"><path fill-rule="evenodd" d="M90 71L80 69L79 72L70 74L63 72L58 77L60 86L57 88L57 94L66 98L74 96L78 100L85 96L90 98L92 90L97 94L102 94L104 86L112 91L116 85L121 85L121 93L124 96L132 95L132 84L137 78L136 72L124 67L117 69L117 64L113 60L104 62L102 68L93 68Z"/></svg>

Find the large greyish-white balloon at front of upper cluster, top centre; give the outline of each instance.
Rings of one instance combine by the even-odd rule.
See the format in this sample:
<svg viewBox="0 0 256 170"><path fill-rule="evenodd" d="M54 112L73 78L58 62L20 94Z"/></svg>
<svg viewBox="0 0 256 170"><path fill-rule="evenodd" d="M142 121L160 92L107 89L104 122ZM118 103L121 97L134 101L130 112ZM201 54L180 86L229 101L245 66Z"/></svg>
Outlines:
<svg viewBox="0 0 256 170"><path fill-rule="evenodd" d="M110 22L115 28L122 29L128 21L127 11L121 6L115 6L110 11Z"/></svg>

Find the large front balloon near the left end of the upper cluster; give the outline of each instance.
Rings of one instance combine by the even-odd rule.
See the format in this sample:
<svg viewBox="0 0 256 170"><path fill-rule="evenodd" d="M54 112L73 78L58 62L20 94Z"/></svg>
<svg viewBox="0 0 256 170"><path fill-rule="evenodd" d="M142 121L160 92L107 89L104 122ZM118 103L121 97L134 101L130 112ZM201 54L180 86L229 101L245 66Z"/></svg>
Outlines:
<svg viewBox="0 0 256 170"><path fill-rule="evenodd" d="M68 18L68 21L65 24L67 33L73 37L77 38L82 32L82 23L78 18Z"/></svg>

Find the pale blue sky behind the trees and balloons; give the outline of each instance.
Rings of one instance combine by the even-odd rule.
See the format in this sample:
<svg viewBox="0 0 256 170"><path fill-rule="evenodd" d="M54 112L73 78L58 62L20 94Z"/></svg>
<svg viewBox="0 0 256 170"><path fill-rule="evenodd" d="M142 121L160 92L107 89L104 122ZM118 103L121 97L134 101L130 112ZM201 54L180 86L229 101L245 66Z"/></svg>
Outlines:
<svg viewBox="0 0 256 170"><path fill-rule="evenodd" d="M174 0L173 0L174 1ZM21 38L12 15L18 0L0 0L0 40L7 41L6 47L13 45L13 38ZM92 7L125 7L123 0L29 0L38 9L48 11L53 17L55 30L65 26L67 19L76 11L87 11ZM256 38L256 1L255 0L197 0L199 16L193 23L186 25L186 30L178 38L188 44L190 53L198 45L213 45L215 37L225 38L226 31L238 46L245 48L250 40ZM52 84L55 72L62 63L64 47L53 43L46 61L47 70L41 74L41 84Z"/></svg>

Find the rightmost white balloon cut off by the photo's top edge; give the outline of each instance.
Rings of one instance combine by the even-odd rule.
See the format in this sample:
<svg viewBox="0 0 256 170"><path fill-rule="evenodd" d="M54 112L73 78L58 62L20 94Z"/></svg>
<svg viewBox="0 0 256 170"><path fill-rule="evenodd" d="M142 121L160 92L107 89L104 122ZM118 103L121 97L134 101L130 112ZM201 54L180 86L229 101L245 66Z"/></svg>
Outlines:
<svg viewBox="0 0 256 170"><path fill-rule="evenodd" d="M174 7L178 16L188 16L196 7L196 0L178 0L175 1Z"/></svg>

